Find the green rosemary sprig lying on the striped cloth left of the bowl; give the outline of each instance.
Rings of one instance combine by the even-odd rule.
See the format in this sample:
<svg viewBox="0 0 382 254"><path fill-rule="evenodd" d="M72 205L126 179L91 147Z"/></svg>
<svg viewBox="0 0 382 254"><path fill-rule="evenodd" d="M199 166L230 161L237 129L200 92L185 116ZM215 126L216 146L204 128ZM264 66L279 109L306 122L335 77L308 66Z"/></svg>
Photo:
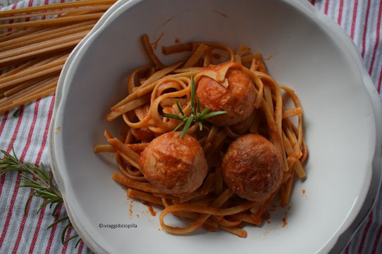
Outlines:
<svg viewBox="0 0 382 254"><path fill-rule="evenodd" d="M25 174L21 174L20 181L23 182L23 185L18 185L16 187L18 188L31 188L33 190L33 193L29 195L29 198L25 204L24 212L28 209L28 204L31 201L32 197L39 197L44 199L45 201L40 205L37 213L41 211L41 209L49 204L49 208L51 209L53 205L53 212L52 215L55 216L57 214L58 207L63 203L63 198L61 195L60 190L53 184L53 174L52 171L49 173L47 172L44 164L41 163L40 167L36 167L35 165L31 163L23 164L16 156L15 150L13 149L12 145L12 153L13 156L9 153L7 153L4 150L0 151L5 155L5 158L0 158L0 168L2 168L2 172L0 174L0 177L4 175L8 171L19 171L24 172L26 174L31 175L32 177L28 177ZM47 227L47 229L53 227L54 225L57 225L60 222L64 222L68 220L68 224L65 226L62 235L61 235L61 242L62 244L65 244L69 240L78 237L78 234L75 234L68 239L65 239L65 233L68 230L69 227L73 228L73 225L71 224L69 217L63 217L61 219L56 220L52 224ZM78 240L76 243L76 248L78 243L81 241L81 239Z"/></svg>

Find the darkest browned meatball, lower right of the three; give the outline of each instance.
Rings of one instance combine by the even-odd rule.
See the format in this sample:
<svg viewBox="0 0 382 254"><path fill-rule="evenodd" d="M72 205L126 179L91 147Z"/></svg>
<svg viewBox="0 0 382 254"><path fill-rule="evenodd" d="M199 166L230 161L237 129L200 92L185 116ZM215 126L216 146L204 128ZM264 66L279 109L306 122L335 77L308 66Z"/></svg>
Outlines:
<svg viewBox="0 0 382 254"><path fill-rule="evenodd" d="M222 169L228 187L251 201L262 201L276 191L284 173L280 153L258 134L236 138L224 155Z"/></svg>

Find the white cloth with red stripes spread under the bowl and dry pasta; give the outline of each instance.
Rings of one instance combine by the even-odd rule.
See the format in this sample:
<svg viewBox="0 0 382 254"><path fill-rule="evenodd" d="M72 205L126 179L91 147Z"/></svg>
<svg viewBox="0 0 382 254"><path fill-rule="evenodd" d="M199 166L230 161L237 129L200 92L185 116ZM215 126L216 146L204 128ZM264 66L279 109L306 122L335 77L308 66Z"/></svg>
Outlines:
<svg viewBox="0 0 382 254"><path fill-rule="evenodd" d="M1 1L1 0L0 0ZM9 0L8 0L9 1ZM64 0L24 0L2 10L46 5ZM312 4L340 24L350 35L361 53L364 64L380 94L382 79L381 0L313 0ZM49 17L46 17L49 18ZM0 75L3 71L0 70ZM382 98L382 97L381 97ZM0 148L11 150L14 143L21 161L49 165L47 134L52 118L54 96L48 96L19 108L18 116L12 110L0 116ZM43 208L36 214L42 200L33 198L24 213L24 204L31 193L27 188L16 188L20 174L9 173L0 179L0 253L91 253L81 242L61 243L65 225L47 230L58 216L52 209ZM60 207L59 217L66 216ZM343 253L382 253L382 195ZM66 236L75 234L69 229Z"/></svg>

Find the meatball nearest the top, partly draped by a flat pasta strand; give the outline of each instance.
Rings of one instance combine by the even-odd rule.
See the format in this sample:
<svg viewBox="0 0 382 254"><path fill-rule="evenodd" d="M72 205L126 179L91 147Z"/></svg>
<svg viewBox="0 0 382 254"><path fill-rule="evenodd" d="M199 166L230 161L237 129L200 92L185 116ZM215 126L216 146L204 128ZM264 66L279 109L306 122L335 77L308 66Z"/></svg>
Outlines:
<svg viewBox="0 0 382 254"><path fill-rule="evenodd" d="M212 68L219 68L214 66ZM203 76L197 85L196 96L199 97L201 109L209 107L211 112L227 111L227 114L214 116L207 121L220 125L233 125L244 121L254 110L256 90L249 77L238 69L229 69L225 75L228 87Z"/></svg>

